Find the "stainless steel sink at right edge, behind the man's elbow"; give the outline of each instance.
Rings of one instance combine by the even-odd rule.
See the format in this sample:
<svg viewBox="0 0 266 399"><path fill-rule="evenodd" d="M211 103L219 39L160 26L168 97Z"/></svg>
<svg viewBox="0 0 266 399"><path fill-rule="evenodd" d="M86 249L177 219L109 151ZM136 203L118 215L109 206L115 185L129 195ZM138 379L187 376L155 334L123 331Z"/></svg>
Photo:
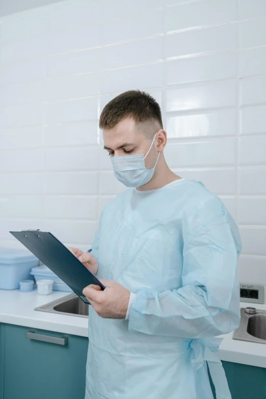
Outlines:
<svg viewBox="0 0 266 399"><path fill-rule="evenodd" d="M266 343L266 310L241 308L240 326L234 331L233 339Z"/></svg>

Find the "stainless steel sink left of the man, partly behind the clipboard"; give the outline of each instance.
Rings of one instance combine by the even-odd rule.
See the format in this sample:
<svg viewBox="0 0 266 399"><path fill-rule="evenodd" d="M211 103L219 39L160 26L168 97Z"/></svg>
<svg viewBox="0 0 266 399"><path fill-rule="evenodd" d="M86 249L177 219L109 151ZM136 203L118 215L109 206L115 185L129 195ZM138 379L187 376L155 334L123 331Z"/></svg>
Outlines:
<svg viewBox="0 0 266 399"><path fill-rule="evenodd" d="M39 306L34 310L79 317L88 317L89 315L89 305L84 303L76 294L67 295L46 305Z"/></svg>

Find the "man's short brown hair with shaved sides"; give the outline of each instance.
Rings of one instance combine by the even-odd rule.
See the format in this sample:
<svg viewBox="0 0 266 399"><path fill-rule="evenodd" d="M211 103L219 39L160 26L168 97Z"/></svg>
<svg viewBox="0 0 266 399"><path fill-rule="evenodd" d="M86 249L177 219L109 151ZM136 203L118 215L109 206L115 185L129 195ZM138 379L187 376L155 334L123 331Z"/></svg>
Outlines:
<svg viewBox="0 0 266 399"><path fill-rule="evenodd" d="M159 128L163 129L159 104L150 94L140 90L128 90L109 101L101 112L99 128L112 129L118 122L128 117L133 118L137 124L158 122ZM148 131L146 135L150 136Z"/></svg>

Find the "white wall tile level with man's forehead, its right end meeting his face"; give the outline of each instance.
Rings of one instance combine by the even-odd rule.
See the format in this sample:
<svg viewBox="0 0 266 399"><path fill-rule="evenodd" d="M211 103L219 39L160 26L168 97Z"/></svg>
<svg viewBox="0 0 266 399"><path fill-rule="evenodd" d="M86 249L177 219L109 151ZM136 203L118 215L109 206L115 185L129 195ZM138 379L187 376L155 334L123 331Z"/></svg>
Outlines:
<svg viewBox="0 0 266 399"><path fill-rule="evenodd" d="M49 147L97 144L97 121L63 123L45 126L45 142Z"/></svg>

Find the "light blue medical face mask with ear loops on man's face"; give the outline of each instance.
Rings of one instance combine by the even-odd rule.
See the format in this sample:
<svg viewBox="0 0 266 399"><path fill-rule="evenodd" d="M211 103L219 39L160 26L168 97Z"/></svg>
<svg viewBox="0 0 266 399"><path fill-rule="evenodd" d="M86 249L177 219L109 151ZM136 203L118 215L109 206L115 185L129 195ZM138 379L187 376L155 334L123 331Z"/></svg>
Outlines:
<svg viewBox="0 0 266 399"><path fill-rule="evenodd" d="M148 183L152 178L160 153L158 153L157 160L152 169L145 168L145 158L150 152L155 137L156 134L145 156L144 154L112 156L111 161L115 177L126 187L140 187Z"/></svg>

